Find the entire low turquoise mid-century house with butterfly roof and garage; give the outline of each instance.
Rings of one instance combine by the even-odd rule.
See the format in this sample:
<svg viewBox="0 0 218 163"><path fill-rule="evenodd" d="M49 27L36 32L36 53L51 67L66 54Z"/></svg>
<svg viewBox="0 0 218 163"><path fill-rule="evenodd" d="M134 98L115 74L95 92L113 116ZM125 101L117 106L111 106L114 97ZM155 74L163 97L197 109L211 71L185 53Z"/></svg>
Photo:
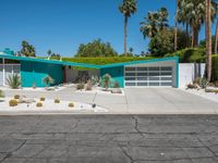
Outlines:
<svg viewBox="0 0 218 163"><path fill-rule="evenodd" d="M10 51L8 49L8 51ZM98 76L109 74L120 87L178 87L179 59L164 58L155 60L133 61L107 65L63 62L37 58L15 57L12 52L0 53L0 85L5 85L9 74L21 75L22 87L46 87L44 78L51 76L53 85L69 83L80 72L73 67L95 68ZM10 64L8 64L10 61ZM12 61L14 61L14 66ZM12 66L12 67L11 67ZM15 67L15 68L14 68ZM77 73L77 74L76 74ZM1 79L2 78L2 79Z"/></svg>

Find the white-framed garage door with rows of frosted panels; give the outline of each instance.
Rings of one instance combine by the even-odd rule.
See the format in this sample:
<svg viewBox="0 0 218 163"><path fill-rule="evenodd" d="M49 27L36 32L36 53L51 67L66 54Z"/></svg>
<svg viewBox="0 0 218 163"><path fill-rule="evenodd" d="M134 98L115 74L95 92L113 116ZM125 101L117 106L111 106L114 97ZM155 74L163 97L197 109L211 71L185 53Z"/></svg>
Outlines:
<svg viewBox="0 0 218 163"><path fill-rule="evenodd" d="M172 67L125 67L125 87L172 86Z"/></svg>

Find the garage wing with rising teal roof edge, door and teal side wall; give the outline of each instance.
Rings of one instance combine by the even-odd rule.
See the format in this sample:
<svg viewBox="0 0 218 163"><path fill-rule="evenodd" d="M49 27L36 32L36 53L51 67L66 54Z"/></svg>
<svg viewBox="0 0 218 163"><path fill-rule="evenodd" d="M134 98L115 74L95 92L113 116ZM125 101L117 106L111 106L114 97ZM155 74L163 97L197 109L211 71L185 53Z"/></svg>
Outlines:
<svg viewBox="0 0 218 163"><path fill-rule="evenodd" d="M109 74L120 87L179 87L179 58L162 58L104 65L100 76Z"/></svg>

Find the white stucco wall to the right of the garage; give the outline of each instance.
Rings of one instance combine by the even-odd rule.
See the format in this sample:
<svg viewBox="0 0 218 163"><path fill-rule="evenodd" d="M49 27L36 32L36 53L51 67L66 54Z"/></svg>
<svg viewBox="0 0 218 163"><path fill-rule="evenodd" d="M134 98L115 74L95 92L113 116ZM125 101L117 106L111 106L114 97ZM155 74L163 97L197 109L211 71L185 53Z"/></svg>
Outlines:
<svg viewBox="0 0 218 163"><path fill-rule="evenodd" d="M179 64L179 87L185 88L196 77L203 77L205 73L205 64L180 63Z"/></svg>

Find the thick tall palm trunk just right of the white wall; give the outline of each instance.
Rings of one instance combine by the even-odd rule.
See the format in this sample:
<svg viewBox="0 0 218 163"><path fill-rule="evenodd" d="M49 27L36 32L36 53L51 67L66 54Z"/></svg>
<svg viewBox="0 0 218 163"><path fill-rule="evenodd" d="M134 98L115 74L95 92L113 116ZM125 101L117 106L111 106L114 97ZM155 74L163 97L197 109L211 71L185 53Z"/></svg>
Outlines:
<svg viewBox="0 0 218 163"><path fill-rule="evenodd" d="M206 75L207 80L211 79L211 20L210 20L210 0L205 0L206 3L206 18L205 18L205 34L206 34Z"/></svg>

